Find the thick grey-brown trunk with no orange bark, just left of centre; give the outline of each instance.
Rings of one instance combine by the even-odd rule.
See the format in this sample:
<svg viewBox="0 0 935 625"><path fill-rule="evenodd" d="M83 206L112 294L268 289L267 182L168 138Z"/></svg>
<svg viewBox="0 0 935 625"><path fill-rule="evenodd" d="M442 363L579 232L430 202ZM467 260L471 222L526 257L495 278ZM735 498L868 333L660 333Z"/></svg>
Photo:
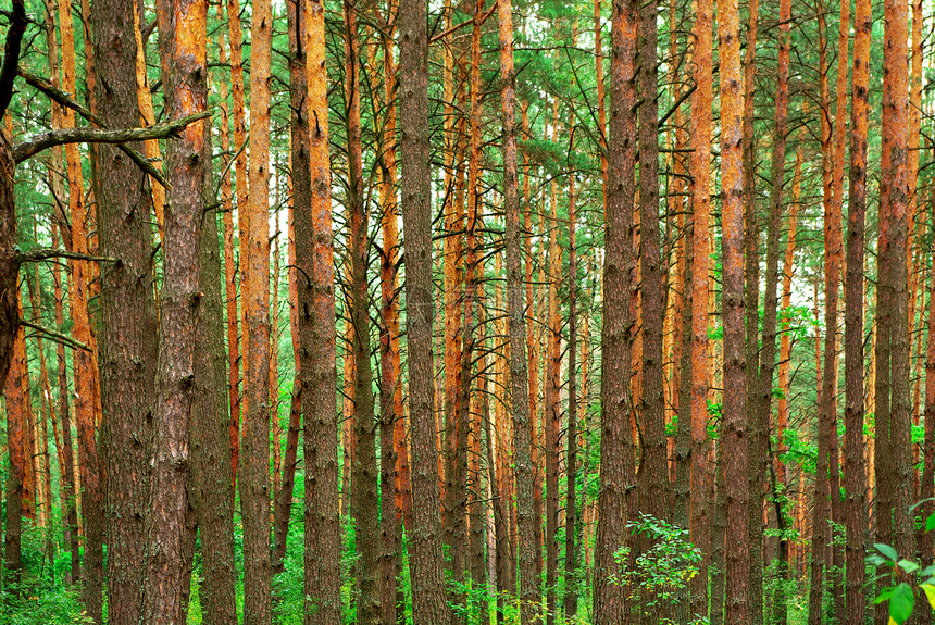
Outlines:
<svg viewBox="0 0 935 625"><path fill-rule="evenodd" d="M428 33L425 0L400 0L400 129L409 398L412 420L412 596L415 625L450 621L441 557L441 520L435 459L432 354L432 207L428 157Z"/></svg>

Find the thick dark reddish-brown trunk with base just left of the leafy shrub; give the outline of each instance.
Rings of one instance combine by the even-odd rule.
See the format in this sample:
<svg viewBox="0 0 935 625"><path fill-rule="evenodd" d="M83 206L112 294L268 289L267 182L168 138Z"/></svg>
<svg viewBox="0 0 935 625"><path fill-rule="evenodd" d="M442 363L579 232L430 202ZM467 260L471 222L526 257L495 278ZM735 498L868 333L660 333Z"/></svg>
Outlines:
<svg viewBox="0 0 935 625"><path fill-rule="evenodd" d="M635 441L629 427L628 371L634 298L633 202L636 145L636 30L638 7L614 0L611 22L611 112L608 140L608 196L604 216L601 450L595 561L594 617L597 625L623 622L626 588L611 580L614 553L624 546L624 518L632 518L628 490L635 486Z"/></svg>

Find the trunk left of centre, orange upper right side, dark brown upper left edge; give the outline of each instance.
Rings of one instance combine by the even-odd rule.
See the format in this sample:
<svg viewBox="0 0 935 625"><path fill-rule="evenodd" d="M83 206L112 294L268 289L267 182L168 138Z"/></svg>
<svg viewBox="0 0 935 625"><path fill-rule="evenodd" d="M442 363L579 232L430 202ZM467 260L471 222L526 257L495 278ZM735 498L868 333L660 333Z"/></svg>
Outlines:
<svg viewBox="0 0 935 625"><path fill-rule="evenodd" d="M303 141L301 132L294 138L292 167L301 167L304 161L311 171L308 190L302 192L297 188L294 197L296 264L301 276L298 289L306 458L304 623L337 625L341 622L341 532L325 16L324 3L320 0L300 7L306 17L308 104L294 111L299 130L304 126L309 139ZM301 78L294 76L294 79L292 97L301 100L303 93L298 90ZM294 178L294 184L300 179Z"/></svg>

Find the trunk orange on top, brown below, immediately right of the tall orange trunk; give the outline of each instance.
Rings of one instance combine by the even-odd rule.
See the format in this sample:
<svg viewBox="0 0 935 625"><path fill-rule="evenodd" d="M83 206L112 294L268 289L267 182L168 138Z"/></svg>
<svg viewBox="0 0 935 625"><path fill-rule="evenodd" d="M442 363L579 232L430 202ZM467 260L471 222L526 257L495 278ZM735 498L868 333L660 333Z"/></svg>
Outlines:
<svg viewBox="0 0 935 625"><path fill-rule="evenodd" d="M739 15L733 2L719 4L721 72L722 318L724 323L724 483L726 487L726 622L748 623L750 600L749 427L744 355L744 163ZM752 314L752 311L751 311Z"/></svg>

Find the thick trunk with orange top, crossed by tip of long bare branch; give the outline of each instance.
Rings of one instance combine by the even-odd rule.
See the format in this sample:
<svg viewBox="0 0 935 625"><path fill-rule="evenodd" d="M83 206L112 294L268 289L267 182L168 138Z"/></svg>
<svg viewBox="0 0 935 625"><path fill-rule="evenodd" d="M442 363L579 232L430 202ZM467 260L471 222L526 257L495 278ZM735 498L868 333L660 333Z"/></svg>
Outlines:
<svg viewBox="0 0 935 625"><path fill-rule="evenodd" d="M204 111L208 105L208 3L161 0L157 15L165 108L169 118ZM153 459L147 515L146 587L141 620L178 623L187 614L190 584L189 427L199 385L197 347L207 314L201 284L200 237L204 230L204 186L210 171L208 122L179 133L166 154L172 189L166 196L160 307L159 364L153 410ZM216 236L214 239L216 245ZM217 312L217 311L210 311ZM199 415L195 415L196 417ZM226 503L226 501L225 501Z"/></svg>

